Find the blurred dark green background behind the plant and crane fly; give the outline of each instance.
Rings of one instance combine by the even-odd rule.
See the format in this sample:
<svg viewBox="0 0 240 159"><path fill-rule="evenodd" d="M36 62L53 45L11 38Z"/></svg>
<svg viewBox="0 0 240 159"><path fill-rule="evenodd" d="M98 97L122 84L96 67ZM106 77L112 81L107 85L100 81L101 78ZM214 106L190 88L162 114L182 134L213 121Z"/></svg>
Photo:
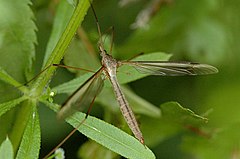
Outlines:
<svg viewBox="0 0 240 159"><path fill-rule="evenodd" d="M58 3L34 0L31 6L38 28L34 62L36 73L41 69ZM185 131L166 135L161 132L159 123L154 123L154 119L140 117L142 125L149 122L149 125L153 125L153 131L159 131L158 142L149 145L157 158L240 158L240 1L165 0L154 16L150 17L145 28L137 29L131 29L130 26L138 13L154 1L138 0L122 7L119 3L117 0L93 2L102 30L106 31L110 26L114 26L114 57L128 59L141 52L161 51L172 54L171 60L208 63L219 70L218 74L209 76L150 76L129 83L136 94L156 106L177 101L209 119L203 126L203 131L210 134L210 137L203 137L204 135L194 136ZM98 34L91 10L86 15L82 28L92 43L97 44ZM71 52L79 53L79 50L84 49L81 45L78 46L78 41L76 38L73 41L75 44L69 47L64 60L66 65L74 65L69 55ZM96 48L96 45L94 47ZM95 68L92 64L89 66L88 62L81 65L80 60L79 63L81 67L87 65L86 67ZM9 65L11 64L14 63L10 60ZM12 72L13 76L14 73ZM74 77L74 73L59 69L51 86ZM24 83L24 79L19 81ZM18 95L10 86L3 83L0 83L0 86L1 102ZM11 95L3 95L5 90L11 91ZM67 95L60 95L55 100L62 103L66 98ZM45 106L40 105L39 110L43 155L59 143L72 128L57 121L56 114ZM96 104L91 115L103 118L104 111L107 110ZM148 135L147 131L144 133L144 126L142 129L147 143L147 140L151 140L151 135ZM76 133L64 148L68 149L67 153L75 156L79 145L86 140L87 138Z"/></svg>

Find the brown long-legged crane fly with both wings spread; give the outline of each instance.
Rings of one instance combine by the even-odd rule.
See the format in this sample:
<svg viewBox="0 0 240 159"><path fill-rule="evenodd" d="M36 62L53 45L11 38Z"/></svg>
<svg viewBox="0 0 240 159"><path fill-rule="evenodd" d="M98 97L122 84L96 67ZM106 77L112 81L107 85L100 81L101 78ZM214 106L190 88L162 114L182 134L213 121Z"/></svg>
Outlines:
<svg viewBox="0 0 240 159"><path fill-rule="evenodd" d="M137 120L118 83L117 69L122 65L130 65L136 68L140 73L161 76L205 75L217 73L218 70L208 64L192 62L132 60L118 61L113 58L111 54L108 54L107 51L104 49L99 21L91 3L90 6L96 20L97 31L99 34L98 49L101 56L102 66L66 100L66 102L63 104L62 108L58 112L57 116L58 118L64 119L72 115L76 111L79 111L80 106L89 106L88 112L86 113L85 117L85 119L87 119L87 116L91 110L95 98L103 88L104 80L108 78L110 80L110 83L112 84L115 97L118 101L124 119L126 120L134 136L144 145L144 138L138 126ZM82 123L83 122L81 122L81 124ZM75 131L76 129L77 128L75 128ZM70 135L68 137L70 137ZM65 142L65 140L63 142ZM63 142L60 143L57 147L60 147Z"/></svg>

